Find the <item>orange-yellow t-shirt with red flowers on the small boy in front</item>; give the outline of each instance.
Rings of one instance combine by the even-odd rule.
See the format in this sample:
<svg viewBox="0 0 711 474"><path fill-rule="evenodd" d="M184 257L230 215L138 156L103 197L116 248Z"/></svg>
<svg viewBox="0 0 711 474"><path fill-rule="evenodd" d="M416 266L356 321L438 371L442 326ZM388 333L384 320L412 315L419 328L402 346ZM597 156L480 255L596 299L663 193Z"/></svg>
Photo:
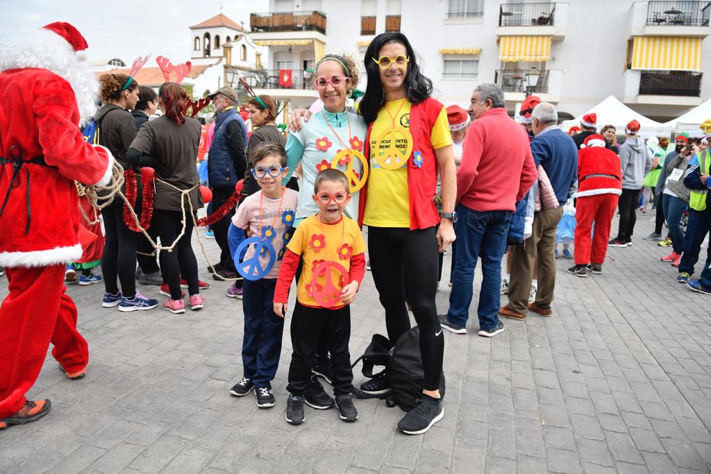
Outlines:
<svg viewBox="0 0 711 474"><path fill-rule="evenodd" d="M319 215L306 217L299 227L294 231L287 249L297 255L301 255L304 266L301 269L301 278L296 284L296 298L304 306L321 307L311 293L311 279L314 276L314 269L321 262L336 262L343 266L346 275L351 270L351 256L365 252L365 241L360 233L358 224L343 215L339 222L335 224L325 224L321 222ZM330 276L327 279L326 273L321 274L316 279L319 290L323 289L327 281L334 286L338 294L343 290L341 272L331 268ZM331 308L340 308L343 303L338 303Z"/></svg>

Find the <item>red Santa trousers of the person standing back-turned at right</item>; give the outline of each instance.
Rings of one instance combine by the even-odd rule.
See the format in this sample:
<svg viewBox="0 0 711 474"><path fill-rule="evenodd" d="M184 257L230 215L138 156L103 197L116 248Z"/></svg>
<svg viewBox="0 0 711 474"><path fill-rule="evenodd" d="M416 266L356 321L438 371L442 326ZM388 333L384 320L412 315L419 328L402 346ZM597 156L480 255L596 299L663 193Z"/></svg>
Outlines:
<svg viewBox="0 0 711 474"><path fill-rule="evenodd" d="M577 198L575 204L575 264L603 264L607 253L607 241L610 238L610 225L615 215L616 194L599 194ZM592 225L595 225L590 245Z"/></svg>

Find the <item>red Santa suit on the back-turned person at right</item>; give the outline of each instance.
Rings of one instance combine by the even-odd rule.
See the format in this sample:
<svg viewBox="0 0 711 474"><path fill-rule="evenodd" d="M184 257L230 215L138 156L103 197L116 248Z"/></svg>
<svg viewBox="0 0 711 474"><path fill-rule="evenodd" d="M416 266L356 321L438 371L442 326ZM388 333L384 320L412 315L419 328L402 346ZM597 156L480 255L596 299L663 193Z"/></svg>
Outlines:
<svg viewBox="0 0 711 474"><path fill-rule="evenodd" d="M610 224L621 193L619 156L605 148L602 135L588 136L578 151L577 225L574 233L576 265L604 263ZM591 239L593 223L595 227Z"/></svg>

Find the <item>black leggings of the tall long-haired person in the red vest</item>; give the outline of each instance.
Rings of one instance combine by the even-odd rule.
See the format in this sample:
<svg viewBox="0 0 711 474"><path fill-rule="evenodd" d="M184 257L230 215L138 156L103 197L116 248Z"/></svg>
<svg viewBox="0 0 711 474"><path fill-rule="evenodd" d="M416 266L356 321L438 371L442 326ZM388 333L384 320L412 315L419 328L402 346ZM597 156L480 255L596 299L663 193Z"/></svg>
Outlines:
<svg viewBox="0 0 711 474"><path fill-rule="evenodd" d="M368 227L370 269L380 304L385 308L387 338L392 343L410 330L405 306L405 285L412 314L419 326L425 390L439 389L444 357L444 335L437 318L438 249L435 228L410 230ZM407 279L405 276L407 275Z"/></svg>

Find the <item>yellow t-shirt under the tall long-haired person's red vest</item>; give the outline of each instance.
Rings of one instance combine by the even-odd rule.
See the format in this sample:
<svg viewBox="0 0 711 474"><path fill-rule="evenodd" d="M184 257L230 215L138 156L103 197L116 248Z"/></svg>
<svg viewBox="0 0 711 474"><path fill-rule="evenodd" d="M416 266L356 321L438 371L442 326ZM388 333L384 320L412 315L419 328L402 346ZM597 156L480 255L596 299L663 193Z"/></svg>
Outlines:
<svg viewBox="0 0 711 474"><path fill-rule="evenodd" d="M403 103L403 101L405 101ZM400 107L402 105L402 107ZM386 110L387 108L387 110ZM398 112L400 109L400 112ZM395 125L406 129L410 128L410 109L412 104L405 99L385 102L385 106L378 112L378 118L373 123L370 131L370 176L368 176L368 200L365 205L363 224L373 227L407 227L410 228L410 190L407 187L407 163L402 163L396 170L386 170L375 161L375 144L383 131L392 126L392 117ZM390 113L388 113L388 111ZM395 139L402 139L396 134ZM434 122L429 133L432 149L443 148L451 145L449 122L447 122L447 109L442 110ZM389 148L390 144L381 144L380 149ZM397 148L406 149L407 144L398 143ZM415 146L412 151L416 151ZM409 160L410 158L408 158Z"/></svg>

